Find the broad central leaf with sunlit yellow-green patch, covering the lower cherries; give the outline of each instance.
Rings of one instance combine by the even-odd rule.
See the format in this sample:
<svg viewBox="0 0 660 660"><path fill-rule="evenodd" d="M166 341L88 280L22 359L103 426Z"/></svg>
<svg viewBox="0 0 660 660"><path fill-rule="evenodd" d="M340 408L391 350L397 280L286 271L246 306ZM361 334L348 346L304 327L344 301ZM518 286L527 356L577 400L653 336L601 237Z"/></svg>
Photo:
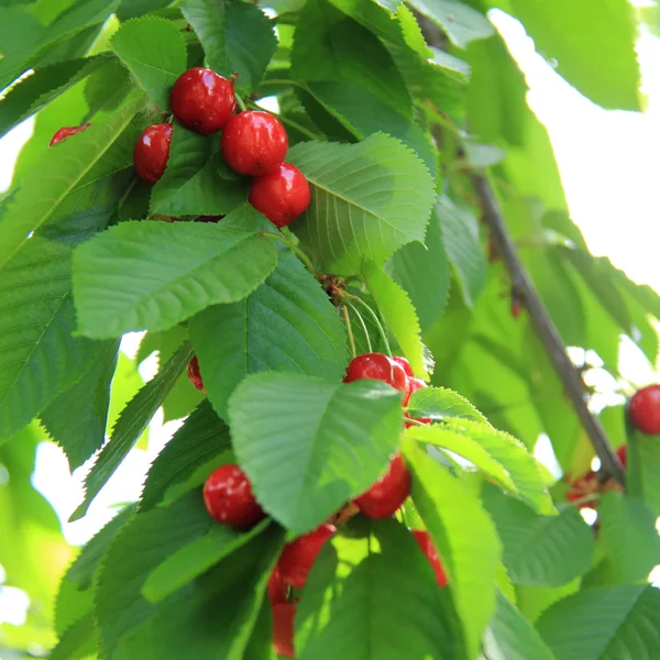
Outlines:
<svg viewBox="0 0 660 660"><path fill-rule="evenodd" d="M400 393L377 381L255 374L234 392L229 418L260 504L299 535L383 473L399 441Z"/></svg>

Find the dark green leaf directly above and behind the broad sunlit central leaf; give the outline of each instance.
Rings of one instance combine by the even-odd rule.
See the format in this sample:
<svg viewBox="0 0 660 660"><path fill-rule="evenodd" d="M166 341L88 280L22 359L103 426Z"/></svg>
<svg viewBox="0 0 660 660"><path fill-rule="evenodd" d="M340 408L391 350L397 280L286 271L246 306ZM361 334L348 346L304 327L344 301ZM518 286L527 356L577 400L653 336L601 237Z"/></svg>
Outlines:
<svg viewBox="0 0 660 660"><path fill-rule="evenodd" d="M222 416L229 396L248 374L280 371L339 380L348 362L337 310L288 251L248 298L209 307L189 327L205 387Z"/></svg>

